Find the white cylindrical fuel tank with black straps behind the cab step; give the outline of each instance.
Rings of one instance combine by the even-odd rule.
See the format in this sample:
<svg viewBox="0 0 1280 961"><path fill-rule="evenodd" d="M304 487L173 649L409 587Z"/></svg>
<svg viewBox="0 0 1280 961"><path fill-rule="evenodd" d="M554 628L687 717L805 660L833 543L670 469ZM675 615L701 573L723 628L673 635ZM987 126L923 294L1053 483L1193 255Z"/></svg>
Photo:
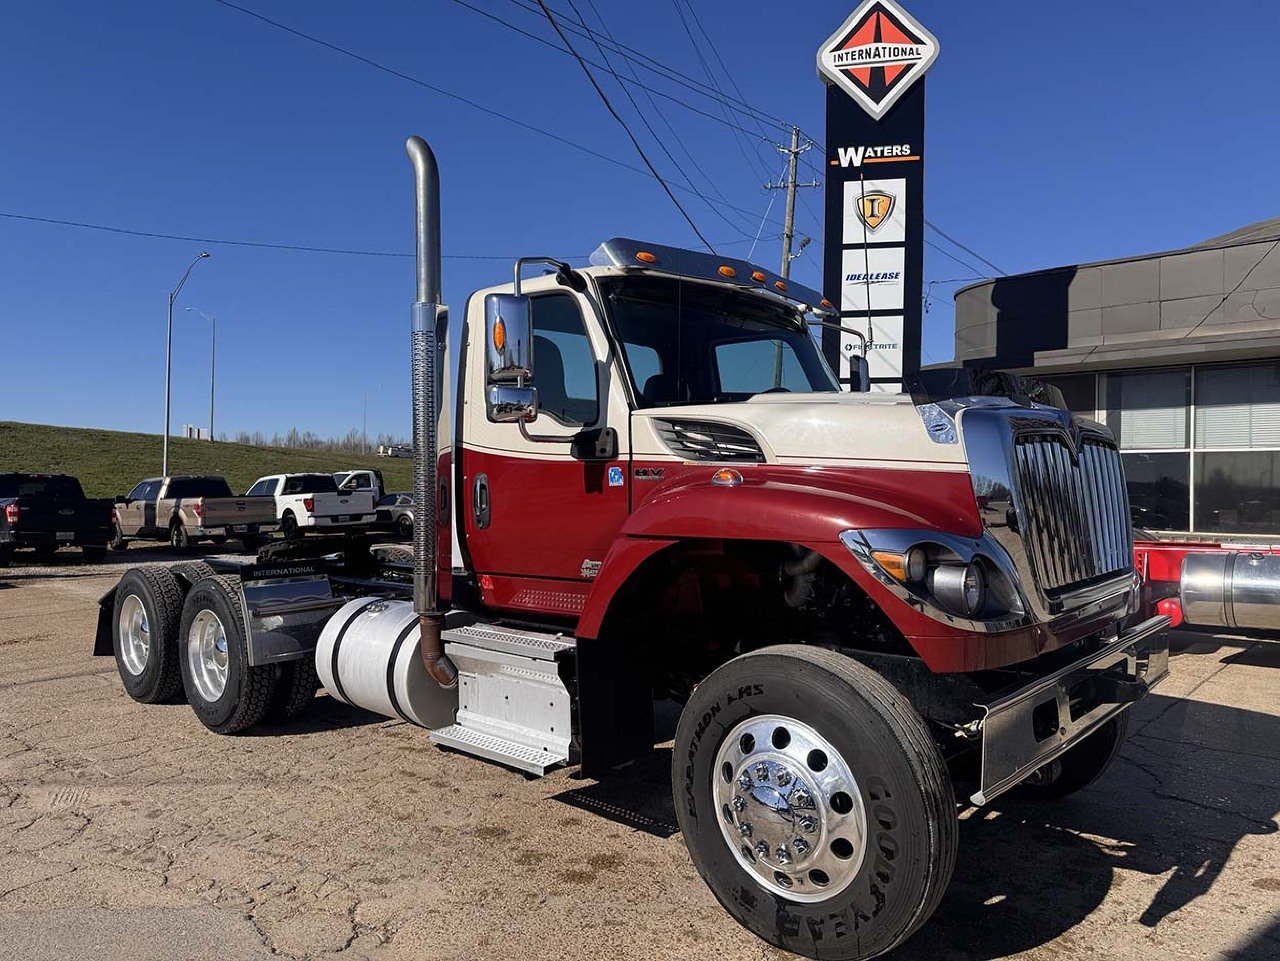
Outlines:
<svg viewBox="0 0 1280 961"><path fill-rule="evenodd" d="M425 728L453 723L457 687L443 691L422 667L419 627L407 600L358 598L329 618L316 672L340 701Z"/></svg>

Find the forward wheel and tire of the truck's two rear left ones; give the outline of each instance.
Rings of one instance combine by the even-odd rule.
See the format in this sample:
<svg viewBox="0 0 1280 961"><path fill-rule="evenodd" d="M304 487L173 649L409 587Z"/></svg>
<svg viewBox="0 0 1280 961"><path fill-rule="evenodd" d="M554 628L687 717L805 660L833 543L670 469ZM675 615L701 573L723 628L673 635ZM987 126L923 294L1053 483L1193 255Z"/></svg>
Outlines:
<svg viewBox="0 0 1280 961"><path fill-rule="evenodd" d="M182 608L178 647L187 703L205 727L236 735L262 720L279 668L248 663L236 577L214 575L196 582Z"/></svg>

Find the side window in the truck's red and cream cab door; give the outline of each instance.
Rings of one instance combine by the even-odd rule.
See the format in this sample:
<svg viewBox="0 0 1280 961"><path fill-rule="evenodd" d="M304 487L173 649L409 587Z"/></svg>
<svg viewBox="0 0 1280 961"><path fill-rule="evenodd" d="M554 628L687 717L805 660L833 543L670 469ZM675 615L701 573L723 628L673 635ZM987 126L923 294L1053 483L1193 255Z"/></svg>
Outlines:
<svg viewBox="0 0 1280 961"><path fill-rule="evenodd" d="M595 424L599 416L595 354L577 301L568 294L535 297L532 316L539 412L568 427Z"/></svg>

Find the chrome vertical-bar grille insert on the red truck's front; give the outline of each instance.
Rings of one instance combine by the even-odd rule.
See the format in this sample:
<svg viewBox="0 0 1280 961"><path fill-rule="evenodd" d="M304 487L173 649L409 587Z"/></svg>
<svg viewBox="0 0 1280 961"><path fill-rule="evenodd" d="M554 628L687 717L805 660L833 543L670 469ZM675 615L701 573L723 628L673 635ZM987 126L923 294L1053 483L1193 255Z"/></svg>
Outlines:
<svg viewBox="0 0 1280 961"><path fill-rule="evenodd" d="M1018 517L1032 568L1046 592L1133 567L1133 530L1120 453L1084 440L1073 457L1060 435L1014 443Z"/></svg>

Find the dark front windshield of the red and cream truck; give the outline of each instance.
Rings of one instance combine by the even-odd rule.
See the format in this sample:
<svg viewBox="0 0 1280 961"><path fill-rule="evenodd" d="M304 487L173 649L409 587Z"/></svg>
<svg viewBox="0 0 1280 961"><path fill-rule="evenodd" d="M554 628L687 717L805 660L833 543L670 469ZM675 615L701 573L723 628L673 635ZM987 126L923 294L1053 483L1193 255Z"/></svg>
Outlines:
<svg viewBox="0 0 1280 961"><path fill-rule="evenodd" d="M785 305L667 278L611 278L600 288L640 407L840 389Z"/></svg>

